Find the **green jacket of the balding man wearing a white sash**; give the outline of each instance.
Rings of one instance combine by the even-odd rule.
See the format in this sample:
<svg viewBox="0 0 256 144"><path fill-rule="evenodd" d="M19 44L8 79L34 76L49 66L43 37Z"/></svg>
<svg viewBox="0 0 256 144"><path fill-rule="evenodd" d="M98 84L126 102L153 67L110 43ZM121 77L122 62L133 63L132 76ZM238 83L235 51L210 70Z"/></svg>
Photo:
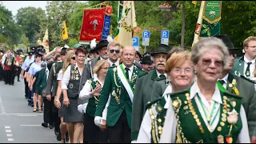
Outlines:
<svg viewBox="0 0 256 144"><path fill-rule="evenodd" d="M135 82L139 74L142 74L143 71L139 70L134 66L134 71L130 80L130 86L132 89L135 87ZM118 86L117 86L118 85ZM121 90L121 92L120 92ZM115 93L115 94L114 94ZM95 112L95 116L102 117L102 112L106 106L106 102L110 98L110 105L107 108L106 122L107 126L114 126L118 121L118 118L122 114L122 110L126 110L126 118L129 126L131 127L131 113L132 113L132 102L130 101L129 94L126 91L126 88L122 85L120 78L118 77L117 66L111 67L106 74L104 86L101 91L101 97L98 101L98 106ZM118 96L120 104L118 104L114 95Z"/></svg>

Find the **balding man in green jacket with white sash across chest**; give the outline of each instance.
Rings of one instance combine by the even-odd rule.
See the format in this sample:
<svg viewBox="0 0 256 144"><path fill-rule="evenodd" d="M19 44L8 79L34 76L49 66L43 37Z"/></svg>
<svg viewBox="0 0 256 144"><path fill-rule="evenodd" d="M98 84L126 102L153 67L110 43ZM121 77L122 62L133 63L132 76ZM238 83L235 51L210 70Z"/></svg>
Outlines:
<svg viewBox="0 0 256 144"><path fill-rule="evenodd" d="M126 46L122 50L122 65L111 67L106 74L101 97L95 112L94 123L102 126L102 112L110 95L106 124L109 132L108 142L130 143L130 127L134 88L138 75L144 73L134 66L136 50Z"/></svg>

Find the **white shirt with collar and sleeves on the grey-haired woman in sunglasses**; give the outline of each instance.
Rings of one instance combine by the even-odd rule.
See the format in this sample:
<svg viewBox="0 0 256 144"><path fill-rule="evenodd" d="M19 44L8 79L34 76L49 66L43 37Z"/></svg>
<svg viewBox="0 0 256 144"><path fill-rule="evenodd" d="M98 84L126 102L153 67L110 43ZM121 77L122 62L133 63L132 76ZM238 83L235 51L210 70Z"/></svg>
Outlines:
<svg viewBox="0 0 256 144"><path fill-rule="evenodd" d="M208 122L206 121L206 117L202 111L202 108L200 106L200 103L198 103L198 97L196 96L196 93L198 93L198 96L202 99L202 103L205 106L207 110L210 109L209 103L206 101L206 98L202 96L202 93L198 89L197 82L194 82L193 86L191 86L190 89L190 99L195 98L195 102L198 106L199 112L202 115L203 121L206 123L206 126L208 126ZM220 92L218 90L218 86L215 86L215 91L211 102L217 102L217 105L215 106L215 110L213 113L213 117L217 114L219 106L222 104L222 99L220 96ZM170 99L170 103L172 103L172 100ZM250 136L249 136L249 130L247 125L247 119L246 119L246 112L241 106L240 109L240 117L242 119L242 130L240 131L238 135L238 143L250 143ZM215 121L212 125L212 130L214 130L218 124L220 113L218 112L217 117L215 118ZM177 119L174 113L174 109L172 106L170 106L166 112L166 121L164 123L164 127L162 129L162 136L160 138L160 143L174 143L176 142L176 127L177 127Z"/></svg>

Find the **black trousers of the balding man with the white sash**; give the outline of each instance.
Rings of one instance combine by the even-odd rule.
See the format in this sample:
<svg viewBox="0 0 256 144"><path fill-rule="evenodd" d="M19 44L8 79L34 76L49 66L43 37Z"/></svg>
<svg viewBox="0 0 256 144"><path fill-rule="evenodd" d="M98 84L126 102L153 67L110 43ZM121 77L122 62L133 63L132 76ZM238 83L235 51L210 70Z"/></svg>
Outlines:
<svg viewBox="0 0 256 144"><path fill-rule="evenodd" d="M130 127L126 118L126 110L122 110L122 114L118 122L114 126L108 126L108 143L130 143Z"/></svg>

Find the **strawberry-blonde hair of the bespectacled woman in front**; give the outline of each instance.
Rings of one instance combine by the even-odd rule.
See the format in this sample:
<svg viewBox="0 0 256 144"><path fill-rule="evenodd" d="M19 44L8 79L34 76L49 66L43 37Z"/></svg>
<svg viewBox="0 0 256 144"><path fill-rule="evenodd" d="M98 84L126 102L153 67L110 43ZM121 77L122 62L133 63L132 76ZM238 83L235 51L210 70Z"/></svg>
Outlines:
<svg viewBox="0 0 256 144"><path fill-rule="evenodd" d="M185 61L190 61L191 54L187 51L180 51L177 54L172 55L166 62L166 73L170 73L174 67L182 66ZM192 66L192 62L191 62Z"/></svg>

